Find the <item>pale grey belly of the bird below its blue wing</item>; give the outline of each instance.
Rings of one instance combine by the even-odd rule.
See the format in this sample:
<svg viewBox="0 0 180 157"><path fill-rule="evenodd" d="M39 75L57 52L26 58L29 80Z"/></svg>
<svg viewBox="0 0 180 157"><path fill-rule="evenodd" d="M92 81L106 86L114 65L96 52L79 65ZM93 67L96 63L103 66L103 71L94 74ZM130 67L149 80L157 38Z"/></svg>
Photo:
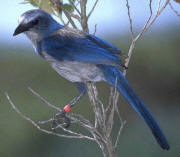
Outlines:
<svg viewBox="0 0 180 157"><path fill-rule="evenodd" d="M71 82L98 82L103 80L100 69L89 63L54 61L51 62L53 69Z"/></svg>

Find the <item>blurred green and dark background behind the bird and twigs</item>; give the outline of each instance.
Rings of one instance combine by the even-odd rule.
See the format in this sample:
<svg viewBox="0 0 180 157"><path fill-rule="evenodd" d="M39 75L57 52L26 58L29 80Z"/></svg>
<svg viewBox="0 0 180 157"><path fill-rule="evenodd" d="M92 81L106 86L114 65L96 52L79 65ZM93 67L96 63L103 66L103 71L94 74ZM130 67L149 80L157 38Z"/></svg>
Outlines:
<svg viewBox="0 0 180 157"><path fill-rule="evenodd" d="M158 29L148 31L138 41L127 78L159 121L171 149L161 150L134 110L124 101L119 101L120 112L123 119L127 120L127 125L120 138L118 156L180 155L180 30L178 23L162 27L160 25ZM128 51L128 33L115 30L112 34L104 33L100 36L123 51ZM30 86L51 103L61 107L77 94L75 86L38 57L29 42L24 44L23 41L11 42L0 38L0 73L0 157L102 156L95 143L41 133L11 108L5 98L5 91L23 113L36 121L46 120L55 112L30 93L27 87ZM101 99L107 97L109 86L105 83L97 85ZM73 112L92 119L89 110L86 95Z"/></svg>

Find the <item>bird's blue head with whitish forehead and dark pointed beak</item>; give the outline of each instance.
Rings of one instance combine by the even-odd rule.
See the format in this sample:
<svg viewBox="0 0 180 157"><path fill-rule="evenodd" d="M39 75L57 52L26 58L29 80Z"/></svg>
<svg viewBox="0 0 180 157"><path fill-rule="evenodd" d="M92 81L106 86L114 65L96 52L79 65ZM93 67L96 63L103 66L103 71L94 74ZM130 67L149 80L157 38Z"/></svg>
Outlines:
<svg viewBox="0 0 180 157"><path fill-rule="evenodd" d="M50 14L40 9L26 11L19 17L18 23L13 36L25 33L41 38L62 27Z"/></svg>

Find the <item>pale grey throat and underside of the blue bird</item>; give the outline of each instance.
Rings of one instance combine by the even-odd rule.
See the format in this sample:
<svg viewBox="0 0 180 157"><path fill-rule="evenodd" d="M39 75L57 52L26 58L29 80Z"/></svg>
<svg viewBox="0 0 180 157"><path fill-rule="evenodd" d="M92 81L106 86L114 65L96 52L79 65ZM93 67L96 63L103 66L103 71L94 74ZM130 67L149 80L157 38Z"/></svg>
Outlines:
<svg viewBox="0 0 180 157"><path fill-rule="evenodd" d="M33 47L37 53L38 35L33 32L26 32L27 37L31 40ZM42 55L51 64L52 68L61 76L71 82L98 82L103 80L103 73L94 64L72 62L72 61L57 61L42 50Z"/></svg>

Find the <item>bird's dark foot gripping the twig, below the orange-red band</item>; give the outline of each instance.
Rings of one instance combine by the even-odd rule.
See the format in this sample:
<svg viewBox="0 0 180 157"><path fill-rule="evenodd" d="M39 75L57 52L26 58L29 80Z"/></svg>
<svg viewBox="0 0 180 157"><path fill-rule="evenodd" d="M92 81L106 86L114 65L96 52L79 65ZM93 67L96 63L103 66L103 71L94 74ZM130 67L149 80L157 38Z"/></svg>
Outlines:
<svg viewBox="0 0 180 157"><path fill-rule="evenodd" d="M52 121L51 129L52 131L56 132L58 126L62 126L64 128L68 128L71 125L71 120L69 117L66 116L66 110L62 110L61 112L57 113L54 116Z"/></svg>

